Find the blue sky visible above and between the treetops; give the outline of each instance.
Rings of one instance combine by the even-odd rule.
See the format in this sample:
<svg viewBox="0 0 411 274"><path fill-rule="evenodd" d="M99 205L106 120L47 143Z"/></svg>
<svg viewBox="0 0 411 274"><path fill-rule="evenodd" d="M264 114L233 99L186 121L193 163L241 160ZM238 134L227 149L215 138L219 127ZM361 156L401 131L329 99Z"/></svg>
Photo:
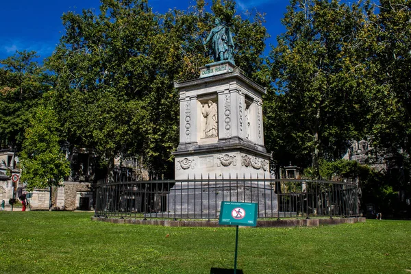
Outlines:
<svg viewBox="0 0 411 274"><path fill-rule="evenodd" d="M58 43L64 27L61 16L64 12L81 12L83 9L99 9L99 0L3 0L0 16L0 59L13 55L16 50L37 51L40 59L47 58ZM211 0L208 0L211 3ZM170 8L187 10L195 0L149 0L154 12L166 12ZM266 28L271 38L266 42L275 44L278 34L284 32L280 19L286 12L288 0L240 0L238 13L256 8L266 12Z"/></svg>

